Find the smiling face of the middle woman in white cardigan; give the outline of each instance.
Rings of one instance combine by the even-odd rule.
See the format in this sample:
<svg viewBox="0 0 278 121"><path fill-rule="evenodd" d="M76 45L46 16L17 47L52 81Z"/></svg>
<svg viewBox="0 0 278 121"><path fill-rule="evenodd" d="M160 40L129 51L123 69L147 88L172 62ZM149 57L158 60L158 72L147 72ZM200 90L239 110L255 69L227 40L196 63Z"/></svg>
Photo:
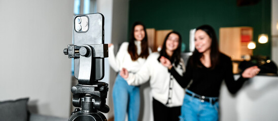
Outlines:
<svg viewBox="0 0 278 121"><path fill-rule="evenodd" d="M166 40L166 51L175 51L179 46L179 35L171 33Z"/></svg>

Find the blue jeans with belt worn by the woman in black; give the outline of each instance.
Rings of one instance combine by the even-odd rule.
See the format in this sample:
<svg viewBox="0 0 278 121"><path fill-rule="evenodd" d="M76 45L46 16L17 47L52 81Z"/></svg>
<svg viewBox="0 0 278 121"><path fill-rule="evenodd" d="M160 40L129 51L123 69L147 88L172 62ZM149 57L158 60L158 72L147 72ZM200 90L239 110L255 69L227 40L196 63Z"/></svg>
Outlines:
<svg viewBox="0 0 278 121"><path fill-rule="evenodd" d="M185 120L219 120L218 110L219 102L212 103L212 101L201 101L199 98L194 97L195 93L187 90L192 96L186 94L181 109L180 121ZM215 100L218 97L210 97L210 100Z"/></svg>

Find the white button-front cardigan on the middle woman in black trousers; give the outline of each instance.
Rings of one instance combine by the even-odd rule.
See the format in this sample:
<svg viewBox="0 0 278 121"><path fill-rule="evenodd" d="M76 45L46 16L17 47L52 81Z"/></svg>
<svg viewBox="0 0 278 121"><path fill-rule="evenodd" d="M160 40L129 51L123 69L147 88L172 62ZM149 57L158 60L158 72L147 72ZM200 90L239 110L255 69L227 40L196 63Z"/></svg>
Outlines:
<svg viewBox="0 0 278 121"><path fill-rule="evenodd" d="M167 107L181 106L185 95L185 89L168 72L168 69L158 62L159 53L150 54L143 67L136 73L129 73L127 83L129 85L141 85L150 79L152 96ZM175 67L182 75L185 65L181 58L180 64ZM171 88L171 89L170 89ZM170 98L170 99L169 99ZM168 104L166 104L168 102Z"/></svg>

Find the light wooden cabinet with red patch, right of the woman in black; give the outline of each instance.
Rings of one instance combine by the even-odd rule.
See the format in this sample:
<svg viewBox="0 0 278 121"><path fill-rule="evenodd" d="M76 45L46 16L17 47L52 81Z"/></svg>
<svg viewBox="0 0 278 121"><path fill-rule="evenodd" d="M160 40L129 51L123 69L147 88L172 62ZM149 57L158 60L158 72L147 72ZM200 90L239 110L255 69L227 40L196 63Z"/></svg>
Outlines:
<svg viewBox="0 0 278 121"><path fill-rule="evenodd" d="M253 50L248 49L247 45L252 40L252 27L223 27L219 30L219 49L230 56L232 61L250 59ZM233 73L238 73L237 63L233 63Z"/></svg>

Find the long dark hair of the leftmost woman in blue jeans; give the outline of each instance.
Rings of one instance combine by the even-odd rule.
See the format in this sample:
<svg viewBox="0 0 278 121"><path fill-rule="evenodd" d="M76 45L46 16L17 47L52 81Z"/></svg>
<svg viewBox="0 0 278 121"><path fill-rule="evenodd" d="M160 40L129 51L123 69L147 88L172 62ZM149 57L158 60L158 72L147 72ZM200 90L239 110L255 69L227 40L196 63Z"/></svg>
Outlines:
<svg viewBox="0 0 278 121"><path fill-rule="evenodd" d="M145 37L141 41L141 54L140 55L137 54L137 47L134 44L134 41L136 41L135 37L134 37L134 28L137 25L142 25L144 28L144 31L145 31ZM148 45L148 36L147 36L146 27L143 23L141 23L141 22L133 23L132 28L131 28L130 39L129 39L127 51L130 54L132 61L136 61L139 57L147 58L149 56L150 53L149 53L149 45Z"/></svg>

